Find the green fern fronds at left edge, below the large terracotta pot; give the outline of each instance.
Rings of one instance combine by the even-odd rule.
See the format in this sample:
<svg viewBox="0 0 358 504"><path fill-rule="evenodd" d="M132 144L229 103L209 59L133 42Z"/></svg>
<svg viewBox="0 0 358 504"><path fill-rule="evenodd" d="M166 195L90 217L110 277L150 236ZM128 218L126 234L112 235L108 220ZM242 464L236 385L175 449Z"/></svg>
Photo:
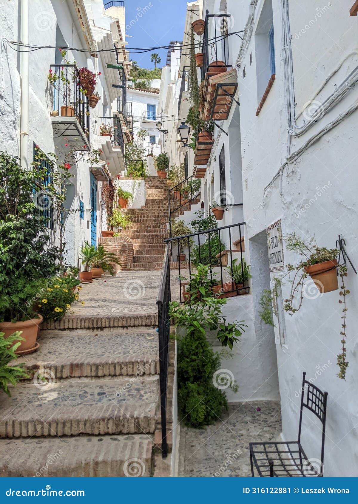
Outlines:
<svg viewBox="0 0 358 504"><path fill-rule="evenodd" d="M0 333L0 390L4 391L10 397L9 384L16 385L20 380L29 377L24 369L24 364L18 366L9 366L9 362L16 360L16 350L19 348L24 338L21 338L21 332L11 334L4 338L4 333Z"/></svg>

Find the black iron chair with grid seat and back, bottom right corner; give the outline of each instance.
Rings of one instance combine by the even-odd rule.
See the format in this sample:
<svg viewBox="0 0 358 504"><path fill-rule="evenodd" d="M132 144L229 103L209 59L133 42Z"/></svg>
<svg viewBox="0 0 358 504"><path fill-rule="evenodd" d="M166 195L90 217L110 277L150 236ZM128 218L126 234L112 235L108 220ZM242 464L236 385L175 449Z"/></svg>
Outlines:
<svg viewBox="0 0 358 504"><path fill-rule="evenodd" d="M260 477L323 476L324 438L326 429L327 392L306 380L303 373L299 437L297 441L250 443L251 474L254 466ZM312 411L322 422L321 460L308 459L301 446L303 408Z"/></svg>

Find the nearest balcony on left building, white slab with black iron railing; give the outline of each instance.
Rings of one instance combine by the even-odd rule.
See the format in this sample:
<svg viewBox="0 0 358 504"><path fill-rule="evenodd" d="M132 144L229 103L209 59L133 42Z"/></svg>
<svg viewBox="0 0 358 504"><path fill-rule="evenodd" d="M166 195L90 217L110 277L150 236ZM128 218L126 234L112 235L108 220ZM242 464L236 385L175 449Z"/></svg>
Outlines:
<svg viewBox="0 0 358 504"><path fill-rule="evenodd" d="M91 108L81 91L76 65L51 65L49 74L53 88L53 137L63 137L76 151L89 151Z"/></svg>

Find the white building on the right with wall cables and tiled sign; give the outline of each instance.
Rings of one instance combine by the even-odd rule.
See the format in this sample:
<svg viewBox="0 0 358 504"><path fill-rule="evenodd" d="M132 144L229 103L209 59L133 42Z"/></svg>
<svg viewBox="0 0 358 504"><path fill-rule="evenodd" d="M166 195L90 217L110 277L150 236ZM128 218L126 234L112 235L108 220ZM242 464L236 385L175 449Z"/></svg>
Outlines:
<svg viewBox="0 0 358 504"><path fill-rule="evenodd" d="M204 0L199 83L211 85L207 71L215 59L224 61L226 72L210 81L212 95L205 96L202 118L214 119L215 128L204 163L205 156L200 159L196 152L193 157L188 150L189 175L202 177L205 212L213 199L221 200L225 211L220 226L245 223L250 294L229 299L225 309L228 320L243 319L249 327L234 359L222 362L240 385L239 392L228 398L280 398L282 438L296 439L306 371L308 381L328 392L325 476L356 476L358 465L354 323L358 276L348 263L346 380L337 377L342 346L339 291L320 294L306 279L302 307L289 316L282 309L291 288L286 281L277 293L275 328L262 322L259 300L273 278L300 259L283 242L279 266L284 271L271 271L267 230L277 222L283 236L294 231L303 238L315 237L322 247L334 248L340 235L353 265L358 265L354 135L358 56L353 35L357 20L349 15L352 4L332 2L319 9L309 0ZM193 4L188 4L186 33L195 19L199 18L193 18ZM205 37L210 40L206 46ZM181 78L187 64L182 55ZM165 72L162 79L164 87ZM223 88L228 94L219 94L232 99L219 103L215 90ZM183 120L188 113L185 93L179 103ZM175 132L176 128L171 134ZM165 143L163 149L171 151ZM302 445L308 457L320 459L320 429L314 418L304 414ZM259 434L255 440L260 440Z"/></svg>

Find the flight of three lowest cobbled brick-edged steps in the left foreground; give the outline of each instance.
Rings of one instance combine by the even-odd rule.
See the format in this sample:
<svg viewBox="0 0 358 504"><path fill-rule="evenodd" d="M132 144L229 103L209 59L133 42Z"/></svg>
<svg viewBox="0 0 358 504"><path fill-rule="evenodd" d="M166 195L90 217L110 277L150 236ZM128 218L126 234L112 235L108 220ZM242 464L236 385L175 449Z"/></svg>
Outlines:
<svg viewBox="0 0 358 504"><path fill-rule="evenodd" d="M170 476L155 329L46 331L19 361L35 374L0 394L0 476Z"/></svg>

